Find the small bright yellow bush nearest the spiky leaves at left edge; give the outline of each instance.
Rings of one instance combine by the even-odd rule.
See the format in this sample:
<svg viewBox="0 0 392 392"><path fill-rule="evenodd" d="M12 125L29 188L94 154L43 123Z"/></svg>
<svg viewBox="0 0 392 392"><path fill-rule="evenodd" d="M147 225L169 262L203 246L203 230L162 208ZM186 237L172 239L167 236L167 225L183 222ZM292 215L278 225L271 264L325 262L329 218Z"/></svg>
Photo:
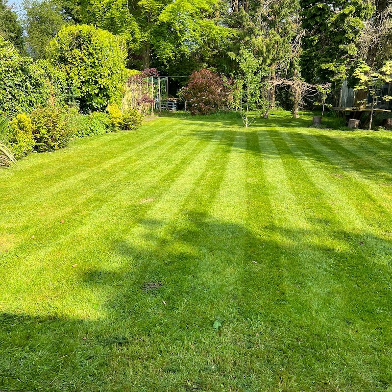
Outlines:
<svg viewBox="0 0 392 392"><path fill-rule="evenodd" d="M33 151L33 123L25 114L18 114L10 123L9 147L15 158L21 158Z"/></svg>

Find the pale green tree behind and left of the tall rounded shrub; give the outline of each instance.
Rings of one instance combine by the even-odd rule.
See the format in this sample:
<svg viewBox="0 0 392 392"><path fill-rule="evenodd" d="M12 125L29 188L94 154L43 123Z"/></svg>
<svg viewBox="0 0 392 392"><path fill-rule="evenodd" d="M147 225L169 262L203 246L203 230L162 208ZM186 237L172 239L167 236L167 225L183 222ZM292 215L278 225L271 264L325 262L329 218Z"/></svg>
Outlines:
<svg viewBox="0 0 392 392"><path fill-rule="evenodd" d="M50 40L69 23L69 18L56 0L25 0L23 6L28 52L33 58L45 58Z"/></svg>

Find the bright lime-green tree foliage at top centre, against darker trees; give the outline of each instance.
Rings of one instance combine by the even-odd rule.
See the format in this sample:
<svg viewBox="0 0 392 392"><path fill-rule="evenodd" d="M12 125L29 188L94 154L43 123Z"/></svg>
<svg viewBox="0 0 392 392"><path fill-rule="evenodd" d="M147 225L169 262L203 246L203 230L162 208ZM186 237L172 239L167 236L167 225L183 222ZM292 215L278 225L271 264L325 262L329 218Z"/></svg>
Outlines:
<svg viewBox="0 0 392 392"><path fill-rule="evenodd" d="M221 39L225 28L214 15L216 0L82 0L84 23L125 39L133 66L148 69L151 60L169 64Z"/></svg>

